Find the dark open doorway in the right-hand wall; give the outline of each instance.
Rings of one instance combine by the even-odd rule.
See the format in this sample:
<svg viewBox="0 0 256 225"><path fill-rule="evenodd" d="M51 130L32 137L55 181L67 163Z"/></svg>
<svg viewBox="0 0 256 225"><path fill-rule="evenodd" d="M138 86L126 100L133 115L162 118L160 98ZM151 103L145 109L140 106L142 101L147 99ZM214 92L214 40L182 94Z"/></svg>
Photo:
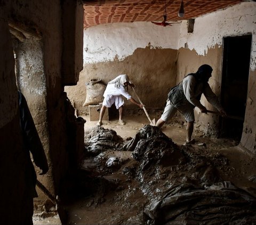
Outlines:
<svg viewBox="0 0 256 225"><path fill-rule="evenodd" d="M220 101L228 117L220 119L220 136L241 140L246 109L252 35L225 37Z"/></svg>

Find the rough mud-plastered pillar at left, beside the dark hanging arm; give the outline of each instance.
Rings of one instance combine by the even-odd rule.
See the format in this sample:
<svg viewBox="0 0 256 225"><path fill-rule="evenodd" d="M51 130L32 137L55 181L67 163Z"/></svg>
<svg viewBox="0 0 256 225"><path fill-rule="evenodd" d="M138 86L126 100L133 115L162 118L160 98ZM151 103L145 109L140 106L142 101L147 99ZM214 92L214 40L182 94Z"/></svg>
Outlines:
<svg viewBox="0 0 256 225"><path fill-rule="evenodd" d="M39 136L43 137L44 150L48 153L46 156L48 156L49 172L45 176L39 176L39 168L36 168L37 177L39 180L43 179L43 185L55 195L59 192L60 178L65 174L68 166L68 156L63 151L67 144L65 141L57 143L58 140L65 139L63 137L65 137L66 126L63 119L65 114L63 111L61 112L59 106L64 104L64 101L60 103L62 92L60 72L61 8L58 1L52 2L51 10L48 9L47 4L41 4L38 7L35 2L31 1L25 1L18 5L9 4L12 12L9 14L9 21L18 28L34 30L42 36L40 44L33 45L29 43L31 40L25 40L25 43L20 44L21 50L25 52L22 57L17 54L19 57L17 60L20 60L18 71L21 70L23 73L20 82L21 90L25 91L24 94L28 98L30 110L34 115L37 128L39 128L38 131L41 133ZM31 45L33 48L26 48L25 45ZM41 51L41 54L35 53L37 50ZM37 71L34 68L37 68ZM29 77L31 78L29 79ZM46 105L47 110L45 109ZM46 124L47 126L45 126ZM60 127L62 129L56 132ZM47 128L49 130L46 130ZM37 190L41 194L41 191ZM45 195L41 194L41 197L45 197Z"/></svg>

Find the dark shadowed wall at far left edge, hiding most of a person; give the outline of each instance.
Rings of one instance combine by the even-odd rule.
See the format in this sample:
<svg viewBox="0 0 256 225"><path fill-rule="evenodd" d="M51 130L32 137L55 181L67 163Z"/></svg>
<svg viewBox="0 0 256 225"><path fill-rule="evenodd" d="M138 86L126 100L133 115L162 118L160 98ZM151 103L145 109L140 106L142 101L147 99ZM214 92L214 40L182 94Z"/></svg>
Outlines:
<svg viewBox="0 0 256 225"><path fill-rule="evenodd" d="M12 41L4 7L0 7L0 15L0 223L19 224L25 192L25 154L21 147Z"/></svg>

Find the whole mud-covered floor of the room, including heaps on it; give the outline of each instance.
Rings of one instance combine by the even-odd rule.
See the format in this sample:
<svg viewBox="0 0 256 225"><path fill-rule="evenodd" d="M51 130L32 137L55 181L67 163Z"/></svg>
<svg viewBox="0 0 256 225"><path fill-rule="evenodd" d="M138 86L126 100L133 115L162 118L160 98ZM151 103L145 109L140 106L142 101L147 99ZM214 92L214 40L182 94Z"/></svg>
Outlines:
<svg viewBox="0 0 256 225"><path fill-rule="evenodd" d="M184 146L185 124L155 130L144 115L126 116L124 126L103 121L102 129L84 119L86 153L81 169L69 178L67 224L256 221L256 160L237 141L204 137L195 126L196 143Z"/></svg>

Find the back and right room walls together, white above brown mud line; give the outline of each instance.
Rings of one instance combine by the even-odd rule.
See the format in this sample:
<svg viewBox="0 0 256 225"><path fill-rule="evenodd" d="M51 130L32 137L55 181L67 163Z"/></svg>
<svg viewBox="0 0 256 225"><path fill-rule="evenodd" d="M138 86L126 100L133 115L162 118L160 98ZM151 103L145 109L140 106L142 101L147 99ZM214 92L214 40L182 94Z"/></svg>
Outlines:
<svg viewBox="0 0 256 225"><path fill-rule="evenodd" d="M82 106L86 98L85 82L92 78L107 82L118 74L127 73L137 82L139 95L146 106L163 109L170 87L207 63L213 68L210 86L219 95L223 37L252 34L248 94L251 100L246 108L241 144L254 153L256 138L253 127L256 124L250 120L255 112L255 7L255 2L243 2L201 16L195 19L193 33L188 33L186 20L172 27L136 22L87 28L84 30L84 69L78 82L79 88L68 87L65 90L73 99L78 113L87 113L87 107ZM213 110L204 97L202 103ZM216 135L218 116L202 115L197 109L195 112L196 122L201 128L209 135ZM250 144L247 140L251 140Z"/></svg>

